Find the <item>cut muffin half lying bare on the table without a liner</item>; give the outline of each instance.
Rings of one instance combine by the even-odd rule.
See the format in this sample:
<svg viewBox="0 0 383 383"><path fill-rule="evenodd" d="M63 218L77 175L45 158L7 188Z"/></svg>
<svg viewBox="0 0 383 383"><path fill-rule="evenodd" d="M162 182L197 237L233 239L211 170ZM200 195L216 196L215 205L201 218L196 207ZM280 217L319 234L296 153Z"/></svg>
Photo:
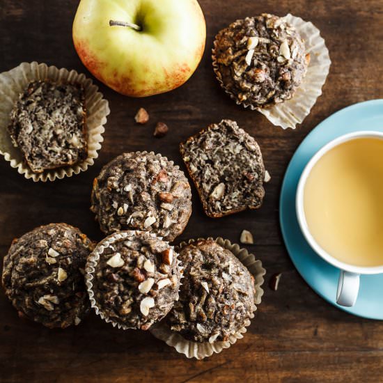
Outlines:
<svg viewBox="0 0 383 383"><path fill-rule="evenodd" d="M262 153L235 121L201 130L180 144L180 152L209 217L260 208L265 196Z"/></svg>

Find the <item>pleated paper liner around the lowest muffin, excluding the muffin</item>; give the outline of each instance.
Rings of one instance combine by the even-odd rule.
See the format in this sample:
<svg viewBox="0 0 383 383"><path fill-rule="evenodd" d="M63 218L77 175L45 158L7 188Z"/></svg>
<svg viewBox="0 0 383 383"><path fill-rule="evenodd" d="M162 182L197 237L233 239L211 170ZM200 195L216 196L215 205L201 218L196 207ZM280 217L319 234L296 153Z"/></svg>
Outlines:
<svg viewBox="0 0 383 383"><path fill-rule="evenodd" d="M203 238L198 238L197 240L189 240L189 242L181 242L178 247L176 247L176 251L198 240L203 240ZM213 240L213 238L209 237L208 240ZM256 292L254 295L253 313L251 313L250 317L252 319L254 318L254 313L257 309L256 305L260 304L261 298L263 296L263 289L260 286L263 285L263 276L265 275L266 270L262 267L260 260L256 260L256 257L253 254L249 253L247 249L241 249L238 244L232 244L229 240L224 240L221 237L218 237L215 242L221 245L221 247L224 247L224 249L231 251L241 261L241 263L247 267L251 275L254 277L254 286ZM185 354L187 358L204 359L205 357L211 357L214 352L219 354L219 352L225 348L233 345L238 339L243 338L243 334L247 331L247 327L249 327L250 323L251 321L249 319L246 320L246 322L244 322L244 326L235 332L235 334L230 335L228 341L218 341L214 343L198 343L188 341L180 334L171 331L164 320L150 327L149 331L156 338L164 341L167 345L174 347L175 350L180 352L180 354Z"/></svg>

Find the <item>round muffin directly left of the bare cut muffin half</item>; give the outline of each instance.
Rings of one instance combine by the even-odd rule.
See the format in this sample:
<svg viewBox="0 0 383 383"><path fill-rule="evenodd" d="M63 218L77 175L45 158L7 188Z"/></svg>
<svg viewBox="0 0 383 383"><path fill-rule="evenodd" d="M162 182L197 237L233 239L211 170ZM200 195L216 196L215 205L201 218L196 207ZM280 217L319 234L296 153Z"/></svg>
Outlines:
<svg viewBox="0 0 383 383"><path fill-rule="evenodd" d="M95 178L91 210L106 234L146 230L172 241L192 214L192 192L185 174L166 157L124 153Z"/></svg>

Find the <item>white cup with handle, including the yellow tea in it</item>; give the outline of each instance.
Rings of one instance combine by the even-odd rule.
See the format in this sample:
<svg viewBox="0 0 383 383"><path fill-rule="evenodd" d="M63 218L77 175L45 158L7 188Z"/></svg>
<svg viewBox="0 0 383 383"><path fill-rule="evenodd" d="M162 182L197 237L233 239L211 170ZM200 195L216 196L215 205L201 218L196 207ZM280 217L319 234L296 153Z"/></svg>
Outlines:
<svg viewBox="0 0 383 383"><path fill-rule="evenodd" d="M336 303L354 306L360 275L383 273L383 133L354 132L323 146L302 172L295 202L308 244L340 269Z"/></svg>

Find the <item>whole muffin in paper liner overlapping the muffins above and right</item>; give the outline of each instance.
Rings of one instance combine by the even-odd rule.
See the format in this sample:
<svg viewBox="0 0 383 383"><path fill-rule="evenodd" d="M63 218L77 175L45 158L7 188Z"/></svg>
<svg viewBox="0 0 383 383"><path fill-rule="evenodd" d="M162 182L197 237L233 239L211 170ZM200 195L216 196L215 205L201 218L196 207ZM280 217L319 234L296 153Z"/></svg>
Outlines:
<svg viewBox="0 0 383 383"><path fill-rule="evenodd" d="M121 231L97 244L86 264L92 306L107 322L147 330L178 299L181 269L168 242Z"/></svg>

